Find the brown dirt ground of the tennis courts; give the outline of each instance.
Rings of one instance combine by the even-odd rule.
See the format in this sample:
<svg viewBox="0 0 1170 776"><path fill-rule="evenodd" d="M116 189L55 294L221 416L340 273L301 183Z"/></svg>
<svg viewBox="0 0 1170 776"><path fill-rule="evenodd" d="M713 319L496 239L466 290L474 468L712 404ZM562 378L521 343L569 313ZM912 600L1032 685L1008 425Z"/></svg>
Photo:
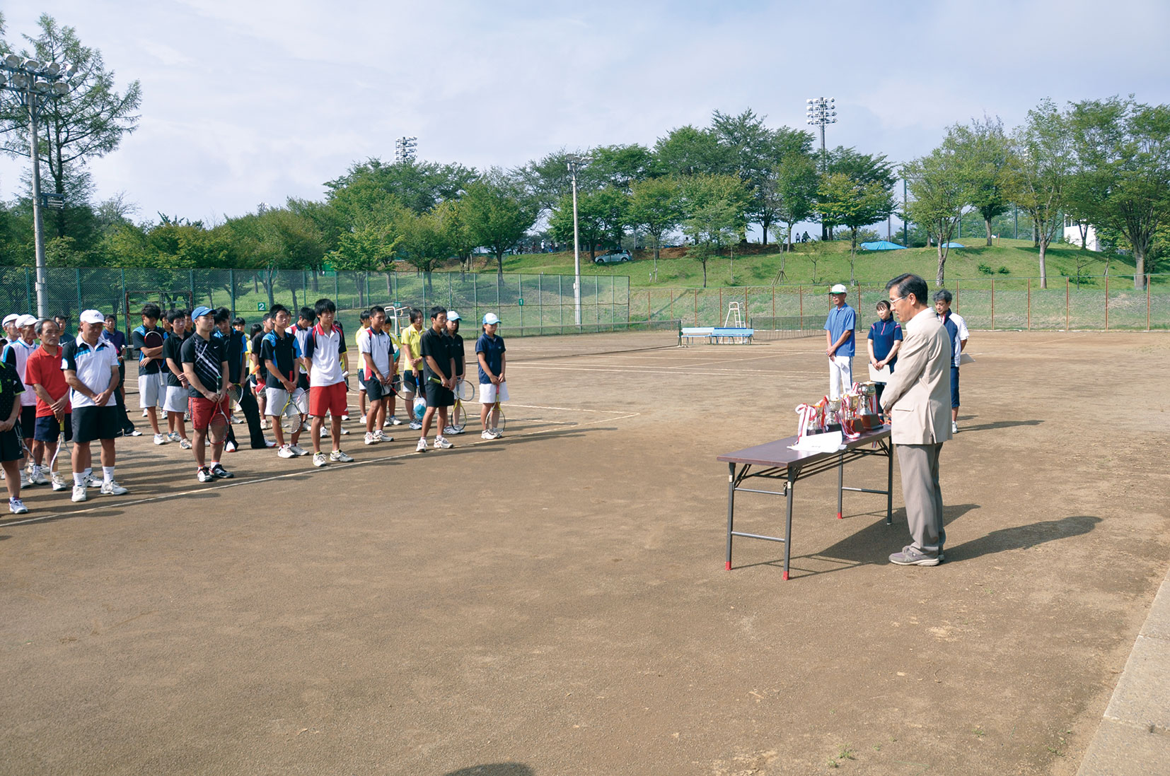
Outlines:
<svg viewBox="0 0 1170 776"><path fill-rule="evenodd" d="M973 332L947 562L888 563L896 472L890 527L863 493L837 520L824 474L787 582L771 542L724 570L715 457L793 432L820 339L552 358L608 346L510 341L501 441L351 423L356 464L242 451L199 485L140 437L130 496L29 491L0 772L1075 772L1170 562L1170 338ZM782 499L737 507L780 531Z"/></svg>

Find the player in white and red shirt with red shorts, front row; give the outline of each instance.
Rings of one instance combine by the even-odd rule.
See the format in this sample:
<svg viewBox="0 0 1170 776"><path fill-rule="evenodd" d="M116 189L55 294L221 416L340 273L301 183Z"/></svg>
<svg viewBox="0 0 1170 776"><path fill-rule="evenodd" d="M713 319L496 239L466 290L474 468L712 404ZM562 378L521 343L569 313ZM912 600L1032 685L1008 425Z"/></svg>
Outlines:
<svg viewBox="0 0 1170 776"><path fill-rule="evenodd" d="M304 339L304 368L309 372L309 416L312 418L312 465L324 466L330 460L349 463L353 458L342 452L342 415L345 414L345 375L349 356L345 354L345 334L333 325L337 305L332 299L318 299L317 325ZM332 415L330 430L333 451L326 459L321 451L321 429L325 415Z"/></svg>

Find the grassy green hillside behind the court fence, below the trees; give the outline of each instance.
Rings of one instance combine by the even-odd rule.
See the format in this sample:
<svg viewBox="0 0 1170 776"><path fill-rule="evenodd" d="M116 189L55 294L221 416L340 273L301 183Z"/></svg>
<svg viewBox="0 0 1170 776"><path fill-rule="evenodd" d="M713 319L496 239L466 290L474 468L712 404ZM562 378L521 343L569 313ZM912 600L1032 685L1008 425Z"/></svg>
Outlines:
<svg viewBox="0 0 1170 776"><path fill-rule="evenodd" d="M973 242L973 241L972 241ZM980 242L983 242L980 240ZM966 243L964 243L966 244ZM849 280L849 244L846 241L805 243L793 247L791 254L775 252L772 247L748 245L753 255L739 256L732 262L727 251L707 263L707 285L742 286L771 285L784 263L786 284L831 284ZM666 254L670 254L667 257ZM682 256L682 249L665 251L658 265L658 282L654 282L653 251L638 251L633 262L625 264L596 265L589 254L581 252L581 275L628 275L633 287L700 287L703 285L703 268L700 262ZM1106 259L1110 275L1133 273L1134 261L1129 256L1106 256L1082 252L1079 248L1059 244L1048 249L1046 258L1048 277L1076 276L1076 261L1081 257L1087 265L1081 275L1104 275ZM815 270L814 270L815 259ZM992 275L980 270L989 268ZM901 272L915 272L934 280L938 265L935 248L909 248L906 250L866 251L858 250L854 277L862 283L885 283ZM1004 268L1000 270L1000 268ZM483 271L494 271L495 261L489 259ZM505 272L544 272L548 275L572 275L572 251L560 254L525 254L504 258ZM815 273L814 273L815 272ZM1000 240L997 245L971 245L951 249L947 256L947 279L976 278L1025 278L1039 276L1039 251L1031 240ZM1100 284L1100 282L1099 282Z"/></svg>

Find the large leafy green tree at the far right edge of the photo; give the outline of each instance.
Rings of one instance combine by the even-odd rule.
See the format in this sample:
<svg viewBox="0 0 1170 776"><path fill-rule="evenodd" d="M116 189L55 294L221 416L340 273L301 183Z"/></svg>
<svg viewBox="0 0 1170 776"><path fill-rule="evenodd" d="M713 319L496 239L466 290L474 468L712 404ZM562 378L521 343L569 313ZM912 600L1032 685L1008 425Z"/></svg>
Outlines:
<svg viewBox="0 0 1170 776"><path fill-rule="evenodd" d="M1074 103L1068 122L1079 161L1074 201L1099 227L1120 231L1134 251L1134 287L1170 221L1170 106L1110 97Z"/></svg>

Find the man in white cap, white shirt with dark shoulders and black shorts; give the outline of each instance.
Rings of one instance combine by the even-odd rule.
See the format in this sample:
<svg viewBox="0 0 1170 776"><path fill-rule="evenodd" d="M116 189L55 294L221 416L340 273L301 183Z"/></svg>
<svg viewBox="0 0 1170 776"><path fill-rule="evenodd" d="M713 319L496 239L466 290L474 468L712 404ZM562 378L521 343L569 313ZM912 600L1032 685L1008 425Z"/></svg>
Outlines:
<svg viewBox="0 0 1170 776"><path fill-rule="evenodd" d="M84 501L85 478L92 472L89 443L102 443L102 493L122 496L126 489L113 479L113 439L122 430L113 392L118 389L118 354L102 338L105 316L97 310L81 314L81 333L62 352L61 368L73 389L74 501Z"/></svg>

